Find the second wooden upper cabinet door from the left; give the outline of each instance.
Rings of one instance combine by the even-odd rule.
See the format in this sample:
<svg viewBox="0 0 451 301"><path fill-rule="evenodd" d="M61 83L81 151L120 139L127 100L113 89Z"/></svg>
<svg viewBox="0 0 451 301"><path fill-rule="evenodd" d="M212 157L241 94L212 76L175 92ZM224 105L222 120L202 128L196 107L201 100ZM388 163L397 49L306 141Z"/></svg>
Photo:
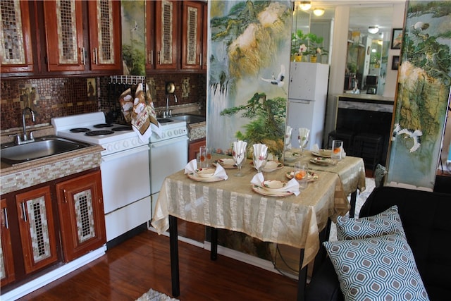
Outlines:
<svg viewBox="0 0 451 301"><path fill-rule="evenodd" d="M44 1L49 71L85 70L82 1Z"/></svg>

